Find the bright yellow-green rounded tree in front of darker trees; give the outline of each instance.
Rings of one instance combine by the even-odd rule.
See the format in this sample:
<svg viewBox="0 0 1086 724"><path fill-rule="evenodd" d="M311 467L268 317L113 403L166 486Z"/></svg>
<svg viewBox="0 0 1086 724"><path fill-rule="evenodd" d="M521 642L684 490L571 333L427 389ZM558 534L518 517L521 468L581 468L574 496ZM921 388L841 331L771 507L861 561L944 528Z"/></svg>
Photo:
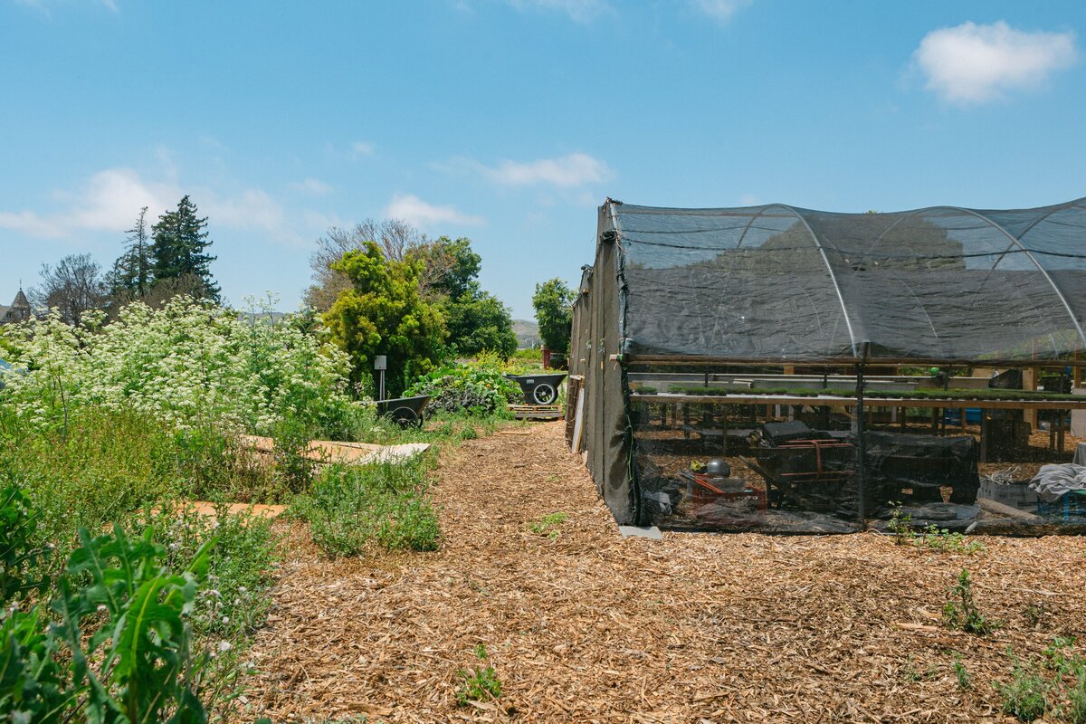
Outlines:
<svg viewBox="0 0 1086 724"><path fill-rule="evenodd" d="M419 294L421 264L389 259L369 241L331 268L351 280L324 315L332 339L351 356L355 381L371 373L376 355L387 355L386 386L390 396L399 395L407 380L429 371L443 353L442 314Z"/></svg>

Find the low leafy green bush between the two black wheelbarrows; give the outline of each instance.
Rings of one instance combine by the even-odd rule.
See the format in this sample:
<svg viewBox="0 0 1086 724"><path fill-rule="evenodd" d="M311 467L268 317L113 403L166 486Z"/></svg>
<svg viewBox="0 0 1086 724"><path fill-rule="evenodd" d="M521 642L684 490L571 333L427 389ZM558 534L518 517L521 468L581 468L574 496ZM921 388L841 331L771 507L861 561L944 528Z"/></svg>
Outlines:
<svg viewBox="0 0 1086 724"><path fill-rule="evenodd" d="M431 395L429 409L433 411L479 416L503 411L507 403L521 398L520 388L503 377L501 363L493 355L424 374L404 392L405 397L413 395Z"/></svg>

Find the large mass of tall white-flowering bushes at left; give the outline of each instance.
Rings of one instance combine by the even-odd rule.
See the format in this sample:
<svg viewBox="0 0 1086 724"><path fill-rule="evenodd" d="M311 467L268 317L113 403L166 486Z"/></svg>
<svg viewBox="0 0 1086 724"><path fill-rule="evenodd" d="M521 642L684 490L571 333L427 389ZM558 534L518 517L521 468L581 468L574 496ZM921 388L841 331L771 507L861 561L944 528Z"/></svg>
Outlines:
<svg viewBox="0 0 1086 724"><path fill-rule="evenodd" d="M176 430L226 423L272 432L285 419L342 434L362 415L348 391L346 355L279 321L253 321L206 301L142 303L101 326L53 313L0 333L15 370L0 371L0 401L21 423L43 430L96 405L135 409Z"/></svg>

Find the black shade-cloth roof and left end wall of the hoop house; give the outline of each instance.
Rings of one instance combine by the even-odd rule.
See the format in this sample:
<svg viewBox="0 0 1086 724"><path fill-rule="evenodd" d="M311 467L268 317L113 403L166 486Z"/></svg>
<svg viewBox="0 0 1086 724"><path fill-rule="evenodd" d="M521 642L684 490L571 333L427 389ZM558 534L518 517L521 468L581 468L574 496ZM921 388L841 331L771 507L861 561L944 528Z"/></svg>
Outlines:
<svg viewBox="0 0 1086 724"><path fill-rule="evenodd" d="M652 412L636 373L708 385L724 366L1057 364L1086 347L1084 272L1086 199L888 214L608 200L573 308L589 468L618 522L675 522L673 491L647 482L659 465L639 459L653 443L639 434ZM842 481L843 498L862 498L861 482ZM857 519L836 505L831 518Z"/></svg>

